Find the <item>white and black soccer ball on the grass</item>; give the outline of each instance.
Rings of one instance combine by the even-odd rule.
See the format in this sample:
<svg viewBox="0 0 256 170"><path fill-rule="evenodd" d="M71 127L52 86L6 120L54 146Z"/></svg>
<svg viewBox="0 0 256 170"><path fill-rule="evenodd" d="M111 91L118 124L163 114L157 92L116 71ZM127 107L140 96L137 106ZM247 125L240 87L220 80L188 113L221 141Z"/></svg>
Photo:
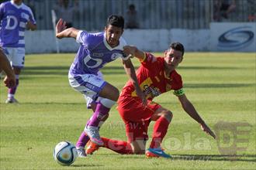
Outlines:
<svg viewBox="0 0 256 170"><path fill-rule="evenodd" d="M54 160L60 165L71 165L78 158L78 151L69 141L61 141L54 148Z"/></svg>

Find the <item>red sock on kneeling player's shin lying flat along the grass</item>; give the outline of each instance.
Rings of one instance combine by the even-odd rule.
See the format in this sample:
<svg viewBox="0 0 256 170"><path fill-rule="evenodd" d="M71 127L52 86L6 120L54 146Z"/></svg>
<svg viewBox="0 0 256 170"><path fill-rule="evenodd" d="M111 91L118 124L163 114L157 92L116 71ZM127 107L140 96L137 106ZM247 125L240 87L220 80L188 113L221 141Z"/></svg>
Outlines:
<svg viewBox="0 0 256 170"><path fill-rule="evenodd" d="M126 141L117 141L103 137L102 141L105 148L109 148L110 150L116 151L119 154L133 154L133 149L130 143L127 143Z"/></svg>

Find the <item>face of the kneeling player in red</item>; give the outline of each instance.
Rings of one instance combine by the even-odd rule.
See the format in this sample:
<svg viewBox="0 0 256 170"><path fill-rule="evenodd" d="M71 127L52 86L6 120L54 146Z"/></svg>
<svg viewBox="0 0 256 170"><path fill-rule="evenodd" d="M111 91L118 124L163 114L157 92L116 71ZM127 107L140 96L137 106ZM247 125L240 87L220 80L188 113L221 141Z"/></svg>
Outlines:
<svg viewBox="0 0 256 170"><path fill-rule="evenodd" d="M168 67L170 70L175 70L175 68L178 66L179 63L182 62L182 52L170 49L168 51L165 51L164 61L165 66Z"/></svg>

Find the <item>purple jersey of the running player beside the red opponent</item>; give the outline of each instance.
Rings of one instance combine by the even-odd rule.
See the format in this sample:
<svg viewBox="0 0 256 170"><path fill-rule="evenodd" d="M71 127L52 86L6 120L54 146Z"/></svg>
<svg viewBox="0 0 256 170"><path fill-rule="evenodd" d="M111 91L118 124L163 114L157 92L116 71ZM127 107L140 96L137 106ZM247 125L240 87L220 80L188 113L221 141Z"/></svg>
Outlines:
<svg viewBox="0 0 256 170"><path fill-rule="evenodd" d="M71 76L88 73L97 75L106 63L119 57L124 60L129 58L123 56L123 46L126 46L126 41L122 37L119 39L119 46L112 48L106 42L104 32L88 33L79 31L77 42L81 46L69 70Z"/></svg>

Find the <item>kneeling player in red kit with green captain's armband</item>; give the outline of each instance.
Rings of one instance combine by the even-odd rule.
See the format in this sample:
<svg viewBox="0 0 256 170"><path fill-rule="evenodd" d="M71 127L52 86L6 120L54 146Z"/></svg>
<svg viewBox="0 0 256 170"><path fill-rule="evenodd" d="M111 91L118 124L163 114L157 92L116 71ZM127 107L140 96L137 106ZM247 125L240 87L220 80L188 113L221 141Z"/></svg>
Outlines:
<svg viewBox="0 0 256 170"><path fill-rule="evenodd" d="M161 142L168 131L172 113L171 110L161 107L160 104L153 101L154 97L170 90L173 90L182 104L182 108L201 125L202 130L216 138L185 96L182 76L175 70L182 62L184 55L184 47L181 43L172 43L165 51L164 57L155 57L151 53L144 53L135 46L125 46L124 53L132 54L140 59L141 66L137 70L137 79L147 97L147 106L142 104L140 98L134 93L133 84L128 81L117 102L119 114L126 124L127 141L102 138L103 147L119 154L146 154L147 157L171 158L171 155L166 154L161 148ZM147 128L150 121L155 121L155 124L150 148L146 151ZM86 152L92 154L99 147L91 142Z"/></svg>

